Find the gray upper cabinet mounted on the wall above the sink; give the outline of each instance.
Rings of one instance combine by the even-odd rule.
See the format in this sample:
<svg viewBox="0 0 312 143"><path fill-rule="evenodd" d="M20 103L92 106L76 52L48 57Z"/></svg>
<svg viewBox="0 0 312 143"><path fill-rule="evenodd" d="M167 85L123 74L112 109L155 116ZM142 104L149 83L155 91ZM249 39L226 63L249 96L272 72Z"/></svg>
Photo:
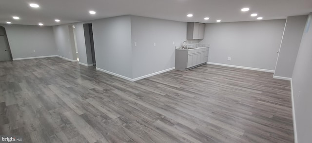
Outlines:
<svg viewBox="0 0 312 143"><path fill-rule="evenodd" d="M204 39L205 24L197 22L187 23L187 39Z"/></svg>

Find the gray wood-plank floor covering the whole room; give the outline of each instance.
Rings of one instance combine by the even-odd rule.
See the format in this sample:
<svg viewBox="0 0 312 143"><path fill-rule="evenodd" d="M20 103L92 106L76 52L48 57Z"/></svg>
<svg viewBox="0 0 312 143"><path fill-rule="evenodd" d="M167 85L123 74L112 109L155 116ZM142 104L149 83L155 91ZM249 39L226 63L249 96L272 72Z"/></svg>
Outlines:
<svg viewBox="0 0 312 143"><path fill-rule="evenodd" d="M205 64L136 82L60 58L0 62L0 135L24 143L293 143L290 82Z"/></svg>

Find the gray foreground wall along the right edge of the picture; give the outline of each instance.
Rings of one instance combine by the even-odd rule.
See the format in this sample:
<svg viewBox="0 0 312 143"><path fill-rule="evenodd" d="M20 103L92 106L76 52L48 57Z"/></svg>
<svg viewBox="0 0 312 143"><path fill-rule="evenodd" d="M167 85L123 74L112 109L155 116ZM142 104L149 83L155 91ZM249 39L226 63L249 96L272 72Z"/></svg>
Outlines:
<svg viewBox="0 0 312 143"><path fill-rule="evenodd" d="M312 136L312 13L309 19L292 73L298 143L311 143Z"/></svg>

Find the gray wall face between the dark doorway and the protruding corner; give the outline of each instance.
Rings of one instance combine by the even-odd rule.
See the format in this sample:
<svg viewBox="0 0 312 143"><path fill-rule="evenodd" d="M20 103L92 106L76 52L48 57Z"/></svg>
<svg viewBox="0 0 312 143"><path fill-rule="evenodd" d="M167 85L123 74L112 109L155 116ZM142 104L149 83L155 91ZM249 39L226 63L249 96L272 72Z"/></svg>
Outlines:
<svg viewBox="0 0 312 143"><path fill-rule="evenodd" d="M92 21L97 67L132 78L131 16Z"/></svg>

